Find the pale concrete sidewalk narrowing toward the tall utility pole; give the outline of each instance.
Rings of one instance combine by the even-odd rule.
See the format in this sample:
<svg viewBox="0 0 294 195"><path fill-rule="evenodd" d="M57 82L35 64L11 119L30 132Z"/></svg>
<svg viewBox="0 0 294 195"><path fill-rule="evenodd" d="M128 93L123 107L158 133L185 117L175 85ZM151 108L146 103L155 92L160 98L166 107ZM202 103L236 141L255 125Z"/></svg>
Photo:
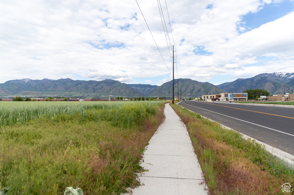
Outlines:
<svg viewBox="0 0 294 195"><path fill-rule="evenodd" d="M202 170L194 153L185 124L166 104L165 121L149 141L144 152L143 184L132 189L141 194L208 194Z"/></svg>

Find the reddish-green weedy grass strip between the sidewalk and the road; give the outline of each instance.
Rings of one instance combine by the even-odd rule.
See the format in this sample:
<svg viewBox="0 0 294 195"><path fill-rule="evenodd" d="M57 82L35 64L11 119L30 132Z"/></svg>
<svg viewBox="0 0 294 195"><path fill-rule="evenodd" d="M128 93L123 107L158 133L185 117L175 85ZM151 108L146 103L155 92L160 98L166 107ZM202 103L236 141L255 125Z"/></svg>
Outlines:
<svg viewBox="0 0 294 195"><path fill-rule="evenodd" d="M200 114L171 106L188 129L211 194L283 194L281 186L294 183L293 167L264 146Z"/></svg>

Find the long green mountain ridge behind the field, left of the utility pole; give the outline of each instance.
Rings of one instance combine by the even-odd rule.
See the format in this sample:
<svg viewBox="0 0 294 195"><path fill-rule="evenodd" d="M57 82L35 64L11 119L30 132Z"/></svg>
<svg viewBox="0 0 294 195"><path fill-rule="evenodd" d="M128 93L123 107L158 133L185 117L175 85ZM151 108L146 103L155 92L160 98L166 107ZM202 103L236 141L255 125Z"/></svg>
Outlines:
<svg viewBox="0 0 294 195"><path fill-rule="evenodd" d="M142 96L140 92L125 83L110 79L104 81L74 81L66 78L48 79L46 82L31 79L22 80L6 81L0 84L0 95Z"/></svg>

